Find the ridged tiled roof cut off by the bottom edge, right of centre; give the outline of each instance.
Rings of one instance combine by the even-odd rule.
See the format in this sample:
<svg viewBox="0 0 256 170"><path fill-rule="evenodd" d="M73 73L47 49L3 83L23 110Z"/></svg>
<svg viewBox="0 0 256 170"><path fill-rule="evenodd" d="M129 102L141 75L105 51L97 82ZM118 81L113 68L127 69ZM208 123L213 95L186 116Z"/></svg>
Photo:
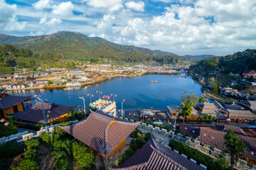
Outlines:
<svg viewBox="0 0 256 170"><path fill-rule="evenodd" d="M152 137L119 169L203 169L186 157L164 147Z"/></svg>

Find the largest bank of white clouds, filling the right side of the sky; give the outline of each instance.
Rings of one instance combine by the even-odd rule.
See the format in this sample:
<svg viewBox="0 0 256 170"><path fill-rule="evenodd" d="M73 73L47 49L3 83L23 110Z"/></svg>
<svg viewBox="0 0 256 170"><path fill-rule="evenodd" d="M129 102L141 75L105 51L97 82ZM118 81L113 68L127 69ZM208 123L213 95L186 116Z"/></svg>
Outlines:
<svg viewBox="0 0 256 170"><path fill-rule="evenodd" d="M193 0L183 0L193 3ZM126 6L126 4L125 4ZM250 0L198 0L193 6L172 4L153 18L114 15L111 29L98 30L107 40L178 55L232 54L255 48L256 5ZM118 25L118 26L114 26Z"/></svg>

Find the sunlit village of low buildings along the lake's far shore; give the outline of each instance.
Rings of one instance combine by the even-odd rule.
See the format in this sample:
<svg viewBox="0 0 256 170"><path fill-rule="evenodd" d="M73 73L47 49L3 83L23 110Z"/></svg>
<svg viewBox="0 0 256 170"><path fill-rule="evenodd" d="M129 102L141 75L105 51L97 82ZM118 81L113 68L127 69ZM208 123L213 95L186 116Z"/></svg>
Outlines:
<svg viewBox="0 0 256 170"><path fill-rule="evenodd" d="M188 65L147 66L135 64L124 67L110 64L78 65L78 69L43 69L26 72L26 69L15 71L14 75L0 75L0 89L50 89L80 87L97 84L117 77L138 77L142 74L176 74L178 69L187 69Z"/></svg>

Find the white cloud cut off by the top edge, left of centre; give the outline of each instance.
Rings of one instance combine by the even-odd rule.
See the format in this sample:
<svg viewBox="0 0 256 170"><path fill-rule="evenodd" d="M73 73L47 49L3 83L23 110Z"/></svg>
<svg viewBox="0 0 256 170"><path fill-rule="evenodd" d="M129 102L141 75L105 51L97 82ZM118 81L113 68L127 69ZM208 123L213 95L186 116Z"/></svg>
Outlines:
<svg viewBox="0 0 256 170"><path fill-rule="evenodd" d="M122 0L86 0L88 5L95 8L107 8L109 11L117 11L123 7Z"/></svg>

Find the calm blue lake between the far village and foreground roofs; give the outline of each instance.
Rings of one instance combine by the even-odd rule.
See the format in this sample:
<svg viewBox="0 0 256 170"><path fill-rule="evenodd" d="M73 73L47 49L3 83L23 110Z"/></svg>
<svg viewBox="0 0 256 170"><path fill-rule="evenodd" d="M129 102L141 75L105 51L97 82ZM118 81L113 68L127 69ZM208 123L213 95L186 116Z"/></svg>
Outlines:
<svg viewBox="0 0 256 170"><path fill-rule="evenodd" d="M124 98L124 109L139 107L166 109L166 106L170 104L180 105L181 95L185 91L189 91L190 94L196 94L196 96L201 96L202 94L202 87L200 84L194 81L191 77L185 79L184 77L181 77L181 75L178 77L171 77L171 75L165 74L149 74L132 79L112 79L92 87L85 87L84 89L41 89L37 91L8 91L8 93L17 96L41 95L43 100L47 99L50 103L55 102L65 105L67 104L68 97L71 96L68 100L68 105L70 106L76 104L83 106L82 99L78 97L84 96L85 105L88 106L90 103L90 96L87 96L87 94L93 94L92 101L95 101L99 98L96 91L102 91L101 96L117 94L117 97L115 98L117 109L121 108L121 102ZM151 80L156 80L157 83L151 83Z"/></svg>

